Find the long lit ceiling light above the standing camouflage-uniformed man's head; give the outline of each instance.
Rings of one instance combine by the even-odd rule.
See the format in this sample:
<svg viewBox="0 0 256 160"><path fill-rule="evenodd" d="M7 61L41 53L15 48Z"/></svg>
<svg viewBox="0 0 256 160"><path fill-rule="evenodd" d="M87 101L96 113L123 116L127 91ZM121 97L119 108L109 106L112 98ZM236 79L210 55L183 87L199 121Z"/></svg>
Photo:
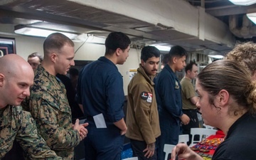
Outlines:
<svg viewBox="0 0 256 160"><path fill-rule="evenodd" d="M14 26L14 33L26 35L26 36L38 36L38 37L47 37L51 33L63 33L65 36L67 36L70 39L74 39L78 36L77 33L69 33L66 31L58 31L53 30L50 28L38 28L34 26L24 26L24 25L17 25Z"/></svg>

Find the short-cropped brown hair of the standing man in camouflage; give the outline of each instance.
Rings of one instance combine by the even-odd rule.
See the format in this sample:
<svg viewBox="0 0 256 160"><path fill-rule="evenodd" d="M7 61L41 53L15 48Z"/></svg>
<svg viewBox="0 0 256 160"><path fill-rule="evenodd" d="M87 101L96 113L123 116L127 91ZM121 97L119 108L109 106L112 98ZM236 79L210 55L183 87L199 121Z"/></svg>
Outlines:
<svg viewBox="0 0 256 160"><path fill-rule="evenodd" d="M43 42L43 52L45 55L52 50L56 50L59 53L65 44L75 46L73 41L62 33L51 33Z"/></svg>

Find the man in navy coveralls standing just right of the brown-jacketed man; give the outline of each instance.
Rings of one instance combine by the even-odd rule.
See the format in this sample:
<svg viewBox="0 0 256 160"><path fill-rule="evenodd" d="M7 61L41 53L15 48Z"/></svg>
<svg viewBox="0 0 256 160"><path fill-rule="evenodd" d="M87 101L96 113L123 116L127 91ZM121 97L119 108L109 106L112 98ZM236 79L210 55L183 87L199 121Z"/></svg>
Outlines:
<svg viewBox="0 0 256 160"><path fill-rule="evenodd" d="M181 46L171 48L169 62L156 78L156 101L159 110L161 136L156 140L157 156L164 160L164 144L177 144L180 123L188 124L189 117L182 112L181 84L175 75L186 66L186 50Z"/></svg>

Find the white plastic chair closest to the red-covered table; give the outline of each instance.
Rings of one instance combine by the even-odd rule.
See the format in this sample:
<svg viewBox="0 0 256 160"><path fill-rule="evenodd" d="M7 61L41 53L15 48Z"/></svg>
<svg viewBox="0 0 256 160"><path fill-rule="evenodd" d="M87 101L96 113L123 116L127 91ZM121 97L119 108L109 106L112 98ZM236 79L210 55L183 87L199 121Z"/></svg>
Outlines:
<svg viewBox="0 0 256 160"><path fill-rule="evenodd" d="M198 142L201 142L203 138L209 137L210 135L216 134L216 129L206 129L206 128L191 128L191 144L189 146L193 146ZM199 135L199 140L194 140L195 135Z"/></svg>

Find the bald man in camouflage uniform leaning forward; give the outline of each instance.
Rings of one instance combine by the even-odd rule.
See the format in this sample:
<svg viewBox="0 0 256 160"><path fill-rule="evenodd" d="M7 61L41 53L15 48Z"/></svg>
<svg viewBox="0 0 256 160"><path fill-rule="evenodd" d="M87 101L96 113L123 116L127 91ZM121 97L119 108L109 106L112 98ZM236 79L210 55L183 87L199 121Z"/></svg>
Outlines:
<svg viewBox="0 0 256 160"><path fill-rule="evenodd" d="M18 55L0 58L0 159L16 140L29 159L62 159L38 134L35 121L23 111L21 101L29 96L33 69Z"/></svg>

